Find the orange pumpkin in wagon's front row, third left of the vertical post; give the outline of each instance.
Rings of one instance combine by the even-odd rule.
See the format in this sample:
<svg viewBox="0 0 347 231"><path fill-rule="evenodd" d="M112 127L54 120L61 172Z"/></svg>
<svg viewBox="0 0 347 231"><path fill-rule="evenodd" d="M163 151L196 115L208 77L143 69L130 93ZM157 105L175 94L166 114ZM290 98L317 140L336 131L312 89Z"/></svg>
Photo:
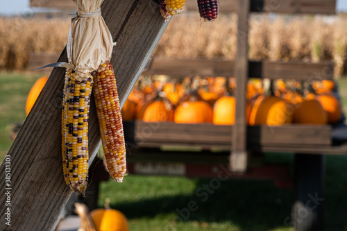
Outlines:
<svg viewBox="0 0 347 231"><path fill-rule="evenodd" d="M173 121L174 109L162 99L155 100L146 106L142 119L145 122Z"/></svg>

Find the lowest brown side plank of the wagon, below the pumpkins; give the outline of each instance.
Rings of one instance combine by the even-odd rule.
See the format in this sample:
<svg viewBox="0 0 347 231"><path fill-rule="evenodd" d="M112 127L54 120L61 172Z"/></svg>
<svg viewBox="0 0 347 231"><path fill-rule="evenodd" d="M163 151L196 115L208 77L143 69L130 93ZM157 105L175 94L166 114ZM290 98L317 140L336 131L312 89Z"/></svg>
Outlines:
<svg viewBox="0 0 347 231"><path fill-rule="evenodd" d="M183 124L172 122L146 123L124 121L126 141L136 147L199 146L230 150L232 126L215 126L210 123ZM331 126L290 124L285 126L248 126L248 148L332 145ZM130 145L130 146L131 146Z"/></svg>

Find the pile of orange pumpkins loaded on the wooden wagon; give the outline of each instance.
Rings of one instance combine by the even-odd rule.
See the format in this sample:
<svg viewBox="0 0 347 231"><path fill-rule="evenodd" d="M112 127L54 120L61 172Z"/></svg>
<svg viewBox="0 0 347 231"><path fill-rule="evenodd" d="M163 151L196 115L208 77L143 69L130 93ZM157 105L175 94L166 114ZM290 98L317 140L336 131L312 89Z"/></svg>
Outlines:
<svg viewBox="0 0 347 231"><path fill-rule="evenodd" d="M251 79L246 85L248 125L334 124L342 118L335 82ZM235 78L140 79L128 96L124 121L235 123Z"/></svg>

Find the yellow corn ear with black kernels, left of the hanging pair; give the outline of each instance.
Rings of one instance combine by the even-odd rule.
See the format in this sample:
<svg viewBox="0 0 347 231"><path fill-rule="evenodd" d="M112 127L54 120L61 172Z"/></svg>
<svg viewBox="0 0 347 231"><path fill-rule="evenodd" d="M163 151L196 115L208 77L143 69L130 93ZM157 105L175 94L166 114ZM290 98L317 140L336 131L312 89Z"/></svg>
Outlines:
<svg viewBox="0 0 347 231"><path fill-rule="evenodd" d="M65 182L85 195L88 175L88 117L93 77L67 69L62 103L62 169Z"/></svg>

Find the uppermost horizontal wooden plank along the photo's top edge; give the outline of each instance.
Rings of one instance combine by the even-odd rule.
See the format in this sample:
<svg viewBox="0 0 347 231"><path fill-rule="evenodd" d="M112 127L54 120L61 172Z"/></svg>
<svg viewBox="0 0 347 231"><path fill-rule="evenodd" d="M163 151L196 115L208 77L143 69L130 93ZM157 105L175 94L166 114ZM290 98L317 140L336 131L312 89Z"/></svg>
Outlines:
<svg viewBox="0 0 347 231"><path fill-rule="evenodd" d="M31 0L31 7L75 8L70 0ZM196 0L187 0L184 10L197 11ZM251 12L326 14L336 13L336 0L251 0ZM219 0L219 12L236 12L237 0Z"/></svg>

